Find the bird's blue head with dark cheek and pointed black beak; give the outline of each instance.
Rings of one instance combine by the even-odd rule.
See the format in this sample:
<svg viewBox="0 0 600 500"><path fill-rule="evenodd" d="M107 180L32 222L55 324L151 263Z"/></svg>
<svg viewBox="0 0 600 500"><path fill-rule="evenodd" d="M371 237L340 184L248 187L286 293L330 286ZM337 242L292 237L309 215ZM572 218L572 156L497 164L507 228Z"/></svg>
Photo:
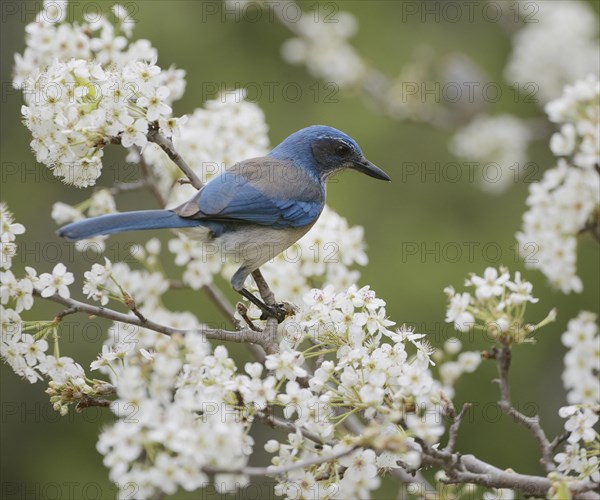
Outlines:
<svg viewBox="0 0 600 500"><path fill-rule="evenodd" d="M294 132L269 155L291 160L314 171L322 180L343 169L358 170L375 179L391 180L383 170L365 158L352 137L324 125L312 125Z"/></svg>

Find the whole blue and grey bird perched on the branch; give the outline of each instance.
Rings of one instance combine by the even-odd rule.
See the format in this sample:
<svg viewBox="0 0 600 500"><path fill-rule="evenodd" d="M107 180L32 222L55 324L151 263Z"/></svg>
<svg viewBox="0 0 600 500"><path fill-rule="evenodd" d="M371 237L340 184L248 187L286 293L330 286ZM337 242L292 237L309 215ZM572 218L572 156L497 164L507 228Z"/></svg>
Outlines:
<svg viewBox="0 0 600 500"><path fill-rule="evenodd" d="M102 215L58 230L71 241L144 229L176 229L234 256L239 269L233 289L256 304L263 317L284 317L244 288L248 275L298 241L325 206L325 184L334 173L358 170L376 179L389 176L369 162L350 136L332 127L301 129L267 156L233 165L172 210Z"/></svg>

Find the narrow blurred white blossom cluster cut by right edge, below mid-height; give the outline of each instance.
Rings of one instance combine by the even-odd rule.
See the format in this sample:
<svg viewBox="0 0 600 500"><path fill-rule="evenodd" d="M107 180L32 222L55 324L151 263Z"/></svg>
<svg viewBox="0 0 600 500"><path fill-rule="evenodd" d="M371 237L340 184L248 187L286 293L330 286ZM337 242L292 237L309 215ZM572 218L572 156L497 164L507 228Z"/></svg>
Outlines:
<svg viewBox="0 0 600 500"><path fill-rule="evenodd" d="M569 348L562 376L569 404L600 404L600 335L597 322L597 314L581 311L569 321L567 331L561 337L563 345Z"/></svg>

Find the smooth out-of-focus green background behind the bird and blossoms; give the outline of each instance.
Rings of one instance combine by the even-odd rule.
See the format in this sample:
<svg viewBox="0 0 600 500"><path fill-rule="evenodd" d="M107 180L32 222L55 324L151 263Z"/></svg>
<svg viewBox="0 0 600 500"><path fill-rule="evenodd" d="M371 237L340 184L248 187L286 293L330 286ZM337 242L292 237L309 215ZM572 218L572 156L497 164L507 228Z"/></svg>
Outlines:
<svg viewBox="0 0 600 500"><path fill-rule="evenodd" d="M52 204L61 200L76 203L90 190L78 191L52 179L45 167L37 165L29 148L29 134L20 123L19 93L10 86L13 53L24 48L24 26L30 22L41 2L13 2L18 5L16 14L7 14L3 4L2 18L2 114L1 154L2 193L27 233L19 241L27 252L14 263L15 274L26 264L34 265L40 272L51 270L62 261L69 270L82 277L91 266L91 259L71 254L69 246L55 234L50 218ZM86 2L80 2L84 5ZM108 8L109 2L96 2ZM303 91L302 99L290 102L281 92L268 99L264 91L258 104L266 114L269 137L277 144L291 132L315 123L328 124L343 129L361 144L367 157L384 168L393 178L392 184L383 184L359 175L347 174L330 186L328 202L331 207L347 217L351 224L366 229L370 264L362 271L362 284L369 284L378 296L388 303L391 319L398 323L414 324L418 331L429 334L434 345L454 335L444 324L445 296L442 289L453 284L462 287L469 272L481 273L487 265L505 264L511 270L524 270L515 257L514 234L520 228L525 209L528 186L524 182L511 184L501 195L492 196L479 189L478 183L469 182L462 175L459 182L449 182L441 175L422 178L403 173L403 165L424 163L435 170L441 165L456 161L448 152L452 131L436 130L431 126L394 121L374 111L365 100L351 91L340 90L336 102L323 102L324 93L314 98L315 85L323 89L325 82L309 76L303 67L292 67L283 62L280 47L291 35L278 23L263 15L258 22L224 22L222 16L205 16L206 4L198 1L146 1L125 2L135 5L137 20L135 38L148 38L159 51L159 64L168 67L176 64L187 71L187 90L183 99L175 104L175 113L184 114L203 104L207 97L207 83L228 88L258 85L266 89L265 82L297 84ZM431 2L428 2L431 5ZM213 4L221 13L221 6ZM302 4L305 9L314 2ZM510 38L501 23L491 23L476 16L474 22L463 17L450 23L443 19L422 22L419 16L402 19L402 2L344 1L337 5L354 13L360 29L353 45L368 62L390 75L396 75L411 57L416 47L428 45L435 57L453 52L463 52L480 66L490 81L502 86L507 96L490 104L487 112L514 113L520 117L542 116L536 104L515 103L514 93L502 77L502 70L510 53ZM506 3L508 5L508 2ZM598 10L598 3L592 2ZM12 12L12 10L11 10ZM543 75L540 75L543 78ZM279 88L281 88L281 86ZM203 95L204 94L204 95ZM510 96L510 97L509 97ZM529 148L530 159L540 166L540 173L553 166L547 147L548 138L535 142ZM100 185L119 178L118 165L122 164L122 150L112 148L105 156L105 171ZM112 171L111 171L112 170ZM131 171L128 171L128 174ZM122 177L121 177L122 178ZM130 179L124 179L130 180ZM149 194L136 192L117 199L120 210L152 208ZM163 241L169 235L157 233ZM115 258L114 249L127 237L116 238L109 244L109 257ZM473 258L467 245L475 243ZM41 245L46 245L42 247ZM421 250L435 249L437 254L422 254ZM488 245L490 252L482 251ZM403 246L404 245L404 246ZM408 255L407 246L417 245L419 252ZM454 259L451 247L463 249L462 256ZM110 254L111 249L113 255ZM445 254L443 249L448 250ZM501 249L496 258L493 249ZM27 253L24 257L23 253ZM451 258L445 258L450 255ZM597 310L598 245L589 237L580 240L578 250L579 275L584 281L584 293L565 296L552 291L545 278L537 271L525 271L534 283L539 304L529 307L529 320L542 319L556 306L558 321L540 332L536 345L523 345L515 349L511 380L515 404L528 414L537 411L550 436L561 430L557 410L565 404L565 393L560 375L563 368L564 348L560 334L566 322L580 310ZM228 287L223 287L232 299ZM72 287L75 294L80 292ZM167 303L178 309L196 312L206 321L221 321L218 313L201 293L170 292ZM60 310L55 305L41 304L35 309L35 319L49 319ZM30 315L30 319L33 317ZM71 317L63 332L65 354L74 356L85 367L101 349L102 338L98 329L90 329L85 317ZM105 328L106 321L98 321ZM88 325L86 327L86 325ZM484 339L462 337L465 350L489 347ZM228 346L238 359L247 354ZM20 380L2 365L0 368L2 426L1 426L1 483L2 498L112 498L114 489L103 467L101 456L95 450L99 426L110 422L107 411L90 409L84 414L69 414L61 418L49 406L42 383L30 385ZM476 373L465 376L457 385L456 402L476 403L472 418L461 430L458 449L474 453L500 468L531 474L541 474L539 451L533 438L508 418L500 417L494 402L498 391L490 381L495 376L492 362L484 362ZM264 435L256 434L257 442ZM256 464L268 458L260 446L254 457ZM266 491L266 490L265 490ZM395 496L397 488L381 490L379 498ZM60 494L57 497L57 492ZM263 491L264 493L264 491ZM199 495L176 495L177 498L197 498ZM205 498L211 498L205 492ZM264 497L264 494L260 495ZM269 495L271 496L271 495Z"/></svg>

